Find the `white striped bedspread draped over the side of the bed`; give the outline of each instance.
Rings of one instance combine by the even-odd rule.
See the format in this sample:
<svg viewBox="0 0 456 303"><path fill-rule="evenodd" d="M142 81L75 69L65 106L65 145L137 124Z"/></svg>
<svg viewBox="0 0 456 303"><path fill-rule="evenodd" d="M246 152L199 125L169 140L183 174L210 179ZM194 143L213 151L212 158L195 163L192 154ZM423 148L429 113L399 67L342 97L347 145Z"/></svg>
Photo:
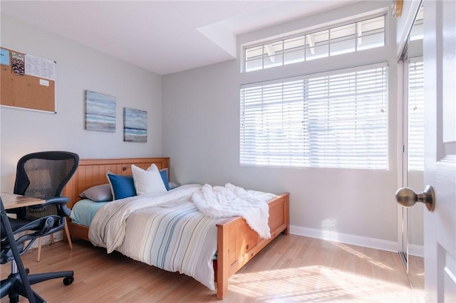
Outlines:
<svg viewBox="0 0 456 303"><path fill-rule="evenodd" d="M200 185L180 186L160 196L107 203L95 214L89 239L95 246L194 277L215 290L212 257L219 218L209 218L191 201Z"/></svg>

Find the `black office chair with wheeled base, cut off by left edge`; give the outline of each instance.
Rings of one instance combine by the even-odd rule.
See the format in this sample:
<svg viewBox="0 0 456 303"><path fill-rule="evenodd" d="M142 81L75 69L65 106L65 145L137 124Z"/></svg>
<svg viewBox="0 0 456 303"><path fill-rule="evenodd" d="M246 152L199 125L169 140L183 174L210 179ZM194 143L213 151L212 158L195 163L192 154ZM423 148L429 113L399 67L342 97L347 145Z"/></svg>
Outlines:
<svg viewBox="0 0 456 303"><path fill-rule="evenodd" d="M31 247L32 243L43 235L48 234L58 221L65 220L60 216L46 216L31 222L19 219L10 219L6 216L6 211L1 201L1 243L0 243L0 264L11 262L10 275L0 281L0 298L9 294L9 302L19 302L19 295L26 297L28 302L46 302L36 292L31 289L31 285L58 277L63 277L64 285L71 285L74 280L73 271L48 272L43 274L28 275L28 270L24 268L21 255ZM33 233L22 234L24 231ZM22 234L22 235L21 235ZM16 240L14 235L19 238ZM28 244L26 245L26 241Z"/></svg>

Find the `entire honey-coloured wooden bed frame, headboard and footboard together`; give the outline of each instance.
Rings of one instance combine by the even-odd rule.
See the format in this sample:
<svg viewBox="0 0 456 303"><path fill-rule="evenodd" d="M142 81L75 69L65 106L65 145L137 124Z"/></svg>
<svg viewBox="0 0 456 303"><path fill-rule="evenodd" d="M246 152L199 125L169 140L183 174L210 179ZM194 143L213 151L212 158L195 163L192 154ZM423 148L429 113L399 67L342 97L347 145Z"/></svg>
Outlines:
<svg viewBox="0 0 456 303"><path fill-rule="evenodd" d="M147 169L155 163L158 169L170 167L170 158L130 158L130 159L81 159L78 169L63 190L63 196L70 197L69 208L81 200L79 193L91 186L108 183L106 172L131 175L131 164ZM169 172L168 172L169 174ZM169 177L169 176L168 176ZM88 227L68 220L72 238L88 241ZM227 218L217 224L217 298L223 299L228 292L228 279L277 235L289 233L289 193L284 193L269 201L269 228L271 238L261 239L259 235L240 217Z"/></svg>

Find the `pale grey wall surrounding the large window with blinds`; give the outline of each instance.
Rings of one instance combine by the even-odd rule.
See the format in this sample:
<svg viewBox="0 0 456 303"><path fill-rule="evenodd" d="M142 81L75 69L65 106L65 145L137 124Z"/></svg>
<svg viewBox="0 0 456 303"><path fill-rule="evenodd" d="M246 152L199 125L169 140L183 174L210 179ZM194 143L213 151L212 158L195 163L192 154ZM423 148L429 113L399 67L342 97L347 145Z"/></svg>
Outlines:
<svg viewBox="0 0 456 303"><path fill-rule="evenodd" d="M378 3L368 2L363 6L378 9ZM343 18L357 7L333 11L329 16L313 16L312 20ZM282 29L289 28L282 25ZM268 34L276 34L276 28L266 28L252 36L261 38ZM383 57L386 53L390 58L388 171L239 166L239 85L254 76L239 74L238 59L163 77L162 142L164 154L171 159L171 179L214 185L231 182L274 193L287 191L291 193L292 232L395 250L398 112L394 34L390 35L390 42L382 50ZM328 62L343 66L359 56L341 55ZM316 65L317 60L298 64L286 73L303 74ZM334 66L319 68L331 70ZM265 73L278 78L284 69L271 68Z"/></svg>

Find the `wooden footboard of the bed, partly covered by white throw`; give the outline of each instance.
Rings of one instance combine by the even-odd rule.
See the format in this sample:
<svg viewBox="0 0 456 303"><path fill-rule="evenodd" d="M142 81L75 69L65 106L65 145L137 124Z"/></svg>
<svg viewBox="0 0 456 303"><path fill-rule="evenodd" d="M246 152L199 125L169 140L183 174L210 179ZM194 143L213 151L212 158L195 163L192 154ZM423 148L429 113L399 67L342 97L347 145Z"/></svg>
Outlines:
<svg viewBox="0 0 456 303"><path fill-rule="evenodd" d="M217 224L217 298L228 292L228 279L277 235L289 233L289 193L269 201L271 238L261 239L243 218L229 218Z"/></svg>

